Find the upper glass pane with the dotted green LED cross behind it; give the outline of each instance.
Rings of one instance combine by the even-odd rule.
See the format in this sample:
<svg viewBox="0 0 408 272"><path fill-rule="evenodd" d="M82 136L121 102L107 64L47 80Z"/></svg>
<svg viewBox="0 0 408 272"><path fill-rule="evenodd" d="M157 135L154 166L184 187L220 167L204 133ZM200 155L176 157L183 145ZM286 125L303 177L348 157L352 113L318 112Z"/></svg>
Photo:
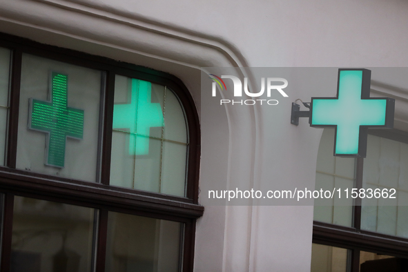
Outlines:
<svg viewBox="0 0 408 272"><path fill-rule="evenodd" d="M101 77L23 55L17 168L97 182Z"/></svg>

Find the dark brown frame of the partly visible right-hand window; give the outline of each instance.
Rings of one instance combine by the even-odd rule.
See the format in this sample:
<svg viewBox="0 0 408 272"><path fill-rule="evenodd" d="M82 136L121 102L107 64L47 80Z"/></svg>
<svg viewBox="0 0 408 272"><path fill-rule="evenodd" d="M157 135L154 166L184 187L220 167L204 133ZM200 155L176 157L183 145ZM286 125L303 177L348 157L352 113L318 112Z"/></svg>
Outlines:
<svg viewBox="0 0 408 272"><path fill-rule="evenodd" d="M408 133L401 130L372 129L369 134L408 144ZM364 159L356 159L356 188L362 188ZM360 269L360 251L408 258L408 239L385 235L361 229L361 199L357 197L353 206L353 226L313 221L313 240L315 244L337 246L349 249L350 272Z"/></svg>

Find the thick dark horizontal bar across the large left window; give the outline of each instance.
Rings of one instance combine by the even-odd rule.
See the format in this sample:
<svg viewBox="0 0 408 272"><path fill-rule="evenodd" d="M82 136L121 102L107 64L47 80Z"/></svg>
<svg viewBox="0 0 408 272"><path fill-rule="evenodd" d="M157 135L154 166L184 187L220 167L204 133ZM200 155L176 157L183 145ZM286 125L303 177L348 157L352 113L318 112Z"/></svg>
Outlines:
<svg viewBox="0 0 408 272"><path fill-rule="evenodd" d="M33 175L38 175L35 177ZM0 168L0 188L3 191L28 193L28 195L58 195L64 201L82 200L95 203L95 208L107 206L123 207L124 210L150 211L155 214L177 217L198 218L204 213L204 207L194 204L193 200L172 195L162 195L137 191L135 189L112 188L93 182L81 182L64 179L66 182L46 178L45 175L27 173L8 168Z"/></svg>

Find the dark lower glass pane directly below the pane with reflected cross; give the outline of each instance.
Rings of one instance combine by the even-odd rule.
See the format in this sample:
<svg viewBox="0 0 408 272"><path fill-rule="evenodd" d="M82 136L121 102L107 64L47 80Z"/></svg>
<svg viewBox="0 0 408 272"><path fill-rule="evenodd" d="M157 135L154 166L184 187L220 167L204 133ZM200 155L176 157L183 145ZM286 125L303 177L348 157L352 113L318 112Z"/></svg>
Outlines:
<svg viewBox="0 0 408 272"><path fill-rule="evenodd" d="M181 232L179 222L109 212L105 271L179 271Z"/></svg>

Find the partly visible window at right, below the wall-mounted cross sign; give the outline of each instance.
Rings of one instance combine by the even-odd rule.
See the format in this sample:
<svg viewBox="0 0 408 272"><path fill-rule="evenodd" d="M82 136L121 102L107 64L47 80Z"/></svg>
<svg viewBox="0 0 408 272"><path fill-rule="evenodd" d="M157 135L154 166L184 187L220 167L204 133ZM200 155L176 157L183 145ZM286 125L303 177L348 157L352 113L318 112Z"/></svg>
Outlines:
<svg viewBox="0 0 408 272"><path fill-rule="evenodd" d="M340 189L342 198L315 200L313 272L408 267L408 135L400 130L369 133L365 159L340 158L333 157L333 129L324 129L315 189Z"/></svg>

